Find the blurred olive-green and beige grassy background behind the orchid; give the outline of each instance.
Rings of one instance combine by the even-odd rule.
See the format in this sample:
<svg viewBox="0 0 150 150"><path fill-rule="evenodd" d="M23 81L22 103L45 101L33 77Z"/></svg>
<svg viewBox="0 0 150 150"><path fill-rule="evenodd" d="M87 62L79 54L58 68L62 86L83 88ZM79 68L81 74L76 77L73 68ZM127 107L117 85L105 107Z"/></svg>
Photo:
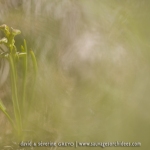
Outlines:
<svg viewBox="0 0 150 150"><path fill-rule="evenodd" d="M29 128L38 140L135 141L148 149L149 13L147 0L0 0L0 24L20 29L18 48L25 38L37 56ZM1 91L11 109L7 82ZM0 117L3 135L10 127Z"/></svg>

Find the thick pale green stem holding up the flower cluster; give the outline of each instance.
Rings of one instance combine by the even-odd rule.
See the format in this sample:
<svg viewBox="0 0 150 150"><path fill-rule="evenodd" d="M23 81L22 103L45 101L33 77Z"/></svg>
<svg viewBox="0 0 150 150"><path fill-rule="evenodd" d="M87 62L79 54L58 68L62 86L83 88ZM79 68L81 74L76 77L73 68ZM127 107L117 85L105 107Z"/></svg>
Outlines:
<svg viewBox="0 0 150 150"><path fill-rule="evenodd" d="M22 121L21 121L21 113L20 113L20 107L19 107L19 102L18 102L15 61L12 55L13 55L12 53L10 53L9 55L9 62L10 62L10 68L11 68L12 101L13 101L13 106L14 106L14 114L16 118L18 134L20 136L20 133L22 131Z"/></svg>

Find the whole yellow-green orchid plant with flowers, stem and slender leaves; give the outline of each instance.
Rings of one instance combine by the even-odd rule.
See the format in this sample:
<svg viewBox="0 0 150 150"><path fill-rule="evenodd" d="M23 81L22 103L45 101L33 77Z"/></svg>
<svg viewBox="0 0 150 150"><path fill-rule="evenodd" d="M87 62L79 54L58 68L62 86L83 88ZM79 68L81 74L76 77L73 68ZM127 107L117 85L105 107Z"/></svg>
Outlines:
<svg viewBox="0 0 150 150"><path fill-rule="evenodd" d="M3 24L0 26L0 30L4 33L5 37L0 40L0 44L3 44L7 47L7 52L0 53L0 59L7 59L10 65L10 77L11 77L11 98L13 104L14 117L8 113L6 107L4 106L2 100L0 100L0 109L5 114L14 130L17 131L17 136L22 135L23 129L23 115L27 109L25 105L26 95L27 95L27 66L28 66L28 53L31 55L33 68L34 68L34 83L32 87L32 93L34 92L35 79L37 75L37 62L34 52L30 50L28 52L26 41L24 40L23 45L21 45L21 50L18 51L15 45L15 36L21 34L21 31L18 29L9 28L7 25ZM21 62L22 61L22 62ZM20 87L18 82L18 64L21 63L23 70L23 84L21 84L23 92L19 96L18 88ZM33 96L29 100L31 103ZM28 109L30 106L27 106Z"/></svg>

